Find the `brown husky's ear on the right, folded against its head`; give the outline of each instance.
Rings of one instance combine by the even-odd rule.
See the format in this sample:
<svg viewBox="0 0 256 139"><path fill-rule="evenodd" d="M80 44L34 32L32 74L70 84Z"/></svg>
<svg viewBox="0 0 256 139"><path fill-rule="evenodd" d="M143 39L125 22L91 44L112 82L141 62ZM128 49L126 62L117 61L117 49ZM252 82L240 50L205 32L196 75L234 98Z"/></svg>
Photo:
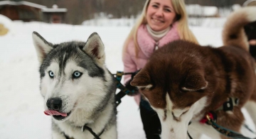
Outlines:
<svg viewBox="0 0 256 139"><path fill-rule="evenodd" d="M188 73L185 84L183 84L183 87L181 89L185 91L198 91L201 89L206 89L208 86L208 82L203 77L203 74L201 72L193 72Z"/></svg>

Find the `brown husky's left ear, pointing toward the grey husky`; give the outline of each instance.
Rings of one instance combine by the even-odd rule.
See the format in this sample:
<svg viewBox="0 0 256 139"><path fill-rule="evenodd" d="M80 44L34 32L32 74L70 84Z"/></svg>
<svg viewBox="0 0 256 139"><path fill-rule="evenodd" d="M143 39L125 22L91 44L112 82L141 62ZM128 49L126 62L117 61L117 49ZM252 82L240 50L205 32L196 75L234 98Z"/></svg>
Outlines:
<svg viewBox="0 0 256 139"><path fill-rule="evenodd" d="M134 79L132 79L132 82L130 84L134 87L143 89L150 89L151 87L153 87L149 73L143 70L139 71L134 76Z"/></svg>

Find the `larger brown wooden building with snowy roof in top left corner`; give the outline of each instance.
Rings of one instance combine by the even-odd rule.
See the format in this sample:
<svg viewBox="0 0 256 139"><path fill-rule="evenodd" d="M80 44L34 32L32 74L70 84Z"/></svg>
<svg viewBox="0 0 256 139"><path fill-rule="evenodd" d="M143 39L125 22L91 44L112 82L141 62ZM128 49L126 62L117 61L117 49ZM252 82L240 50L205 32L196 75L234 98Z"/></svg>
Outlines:
<svg viewBox="0 0 256 139"><path fill-rule="evenodd" d="M13 21L41 21L41 9L46 6L28 1L0 1L0 14Z"/></svg>

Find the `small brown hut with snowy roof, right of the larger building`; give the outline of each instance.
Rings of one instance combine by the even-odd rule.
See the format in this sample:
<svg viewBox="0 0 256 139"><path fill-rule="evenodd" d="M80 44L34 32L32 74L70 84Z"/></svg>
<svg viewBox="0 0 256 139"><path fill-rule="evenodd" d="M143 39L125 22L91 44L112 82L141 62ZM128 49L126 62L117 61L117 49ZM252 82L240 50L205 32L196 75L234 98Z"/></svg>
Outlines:
<svg viewBox="0 0 256 139"><path fill-rule="evenodd" d="M57 5L53 5L52 9L42 9L43 22L46 23L65 23L65 14L67 9L59 9Z"/></svg>

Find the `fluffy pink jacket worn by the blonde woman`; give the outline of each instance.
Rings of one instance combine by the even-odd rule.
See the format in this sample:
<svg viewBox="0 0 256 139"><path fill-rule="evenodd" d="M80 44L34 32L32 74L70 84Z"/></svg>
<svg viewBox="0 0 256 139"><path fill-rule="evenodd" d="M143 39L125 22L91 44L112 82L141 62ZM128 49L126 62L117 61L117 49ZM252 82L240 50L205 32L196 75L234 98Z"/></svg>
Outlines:
<svg viewBox="0 0 256 139"><path fill-rule="evenodd" d="M180 39L177 30L177 23L174 23L171 30L159 40L159 48L161 48L166 43L169 43L174 40ZM147 60L149 59L150 55L154 52L156 47L156 41L151 38L149 35L146 25L139 26L137 32L137 40L139 45L139 53L138 57L135 54L135 46L134 41L132 40L129 42L127 50L123 54L122 61L124 62L124 72L135 72L137 70L142 69L145 65ZM130 75L124 76L124 82L128 82L131 79ZM135 101L139 105L140 101L140 94L134 96Z"/></svg>

